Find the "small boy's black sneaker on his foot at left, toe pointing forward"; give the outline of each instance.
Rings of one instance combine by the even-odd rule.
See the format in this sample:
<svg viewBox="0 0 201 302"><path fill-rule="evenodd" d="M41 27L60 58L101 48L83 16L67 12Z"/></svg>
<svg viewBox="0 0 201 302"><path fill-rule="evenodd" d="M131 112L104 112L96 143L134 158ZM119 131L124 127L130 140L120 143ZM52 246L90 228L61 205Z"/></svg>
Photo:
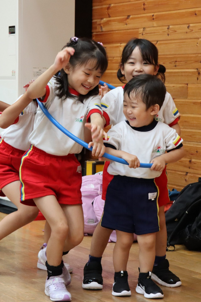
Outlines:
<svg viewBox="0 0 201 302"><path fill-rule="evenodd" d="M118 271L115 273L114 283L112 288L113 296L130 296L131 291L128 285L127 271Z"/></svg>

